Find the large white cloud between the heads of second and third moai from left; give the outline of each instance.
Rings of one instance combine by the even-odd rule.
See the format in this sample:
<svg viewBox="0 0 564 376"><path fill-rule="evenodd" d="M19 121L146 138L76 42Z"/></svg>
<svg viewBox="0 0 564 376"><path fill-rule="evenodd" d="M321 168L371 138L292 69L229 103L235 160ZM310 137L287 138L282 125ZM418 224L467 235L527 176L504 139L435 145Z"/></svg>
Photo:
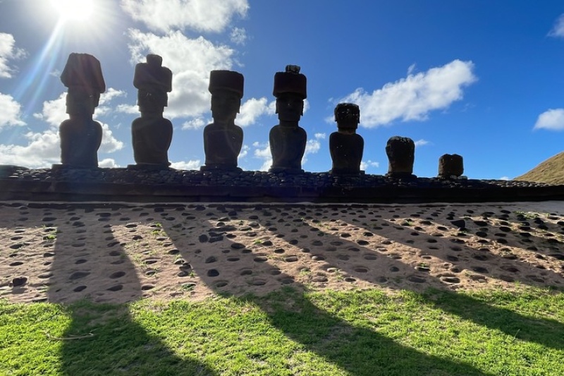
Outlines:
<svg viewBox="0 0 564 376"><path fill-rule="evenodd" d="M216 46L203 37L190 39L182 32L169 32L160 37L152 33L130 30L129 49L133 63L145 61L149 53L163 58L163 65L173 72L173 91L168 95L165 116L202 117L209 111L209 72L231 69L234 50Z"/></svg>

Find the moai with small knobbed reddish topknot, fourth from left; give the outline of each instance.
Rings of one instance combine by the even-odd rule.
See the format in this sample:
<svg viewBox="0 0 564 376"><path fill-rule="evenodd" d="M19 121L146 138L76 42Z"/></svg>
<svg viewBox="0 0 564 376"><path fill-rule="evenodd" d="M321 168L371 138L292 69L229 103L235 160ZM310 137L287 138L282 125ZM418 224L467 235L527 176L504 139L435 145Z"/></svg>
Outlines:
<svg viewBox="0 0 564 376"><path fill-rule="evenodd" d="M300 128L298 121L304 113L304 99L307 80L300 73L299 66L286 66L285 72L274 75L274 97L276 114L280 123L270 130L270 152L272 166L270 172L301 174L302 157L305 153L307 133Z"/></svg>

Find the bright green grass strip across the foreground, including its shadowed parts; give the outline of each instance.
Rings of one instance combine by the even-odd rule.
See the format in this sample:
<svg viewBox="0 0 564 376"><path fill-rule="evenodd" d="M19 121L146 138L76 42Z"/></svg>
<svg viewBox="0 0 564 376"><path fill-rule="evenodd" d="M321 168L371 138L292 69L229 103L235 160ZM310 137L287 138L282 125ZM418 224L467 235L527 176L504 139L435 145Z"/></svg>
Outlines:
<svg viewBox="0 0 564 376"><path fill-rule="evenodd" d="M564 298L286 289L200 303L1 301L0 343L0 375L564 375Z"/></svg>

